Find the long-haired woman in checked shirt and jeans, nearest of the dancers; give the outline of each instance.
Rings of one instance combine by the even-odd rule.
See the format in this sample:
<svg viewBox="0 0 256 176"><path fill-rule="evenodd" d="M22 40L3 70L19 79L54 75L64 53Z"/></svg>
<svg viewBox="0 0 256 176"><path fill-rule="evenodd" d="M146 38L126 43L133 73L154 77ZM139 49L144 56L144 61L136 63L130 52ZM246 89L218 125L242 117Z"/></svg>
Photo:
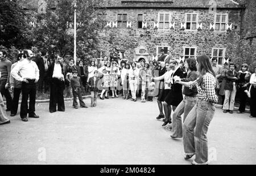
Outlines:
<svg viewBox="0 0 256 176"><path fill-rule="evenodd" d="M189 112L183 125L184 158L188 160L196 154L192 164L203 165L209 162L207 131L215 113L214 104L218 102L215 93L217 81L208 55L200 55L196 61L199 78L189 82L181 81L180 78L175 81L185 87L197 88L197 103Z"/></svg>

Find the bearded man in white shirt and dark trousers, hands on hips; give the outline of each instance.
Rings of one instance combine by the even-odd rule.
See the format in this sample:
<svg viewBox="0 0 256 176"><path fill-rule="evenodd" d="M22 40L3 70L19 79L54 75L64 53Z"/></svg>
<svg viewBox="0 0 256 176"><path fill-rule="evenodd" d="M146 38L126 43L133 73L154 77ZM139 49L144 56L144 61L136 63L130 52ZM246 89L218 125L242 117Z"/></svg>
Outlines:
<svg viewBox="0 0 256 176"><path fill-rule="evenodd" d="M39 69L34 61L34 54L31 50L23 50L23 61L18 63L13 70L11 76L18 81L22 81L22 103L20 105L20 118L27 122L28 117L39 118L35 114L35 99L36 99L36 83L39 80ZM18 73L21 75L19 76ZM28 108L27 100L30 96L30 105Z"/></svg>

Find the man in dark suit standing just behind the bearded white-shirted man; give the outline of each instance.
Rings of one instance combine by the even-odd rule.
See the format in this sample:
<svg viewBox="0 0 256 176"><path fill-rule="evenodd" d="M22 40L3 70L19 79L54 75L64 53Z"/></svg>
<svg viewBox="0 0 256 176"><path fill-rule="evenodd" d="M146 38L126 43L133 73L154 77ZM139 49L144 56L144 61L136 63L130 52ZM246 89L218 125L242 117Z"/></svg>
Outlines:
<svg viewBox="0 0 256 176"><path fill-rule="evenodd" d="M47 91L47 70L48 70L48 53L46 50L40 51L42 57L38 57L35 59L36 65L38 65L39 69L39 80L38 80L38 91L43 92L43 85L44 85L44 92Z"/></svg>

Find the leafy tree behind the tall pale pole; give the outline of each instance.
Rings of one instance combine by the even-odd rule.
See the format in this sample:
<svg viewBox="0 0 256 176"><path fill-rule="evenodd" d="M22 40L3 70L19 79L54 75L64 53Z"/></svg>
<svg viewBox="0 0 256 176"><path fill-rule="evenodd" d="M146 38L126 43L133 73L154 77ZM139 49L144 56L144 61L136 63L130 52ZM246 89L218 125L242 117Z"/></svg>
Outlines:
<svg viewBox="0 0 256 176"><path fill-rule="evenodd" d="M102 23L97 14L102 6L100 0L77 0L77 56L82 59L96 56L97 34ZM46 14L35 18L34 46L63 57L73 55L73 0L59 1L55 10L47 6Z"/></svg>

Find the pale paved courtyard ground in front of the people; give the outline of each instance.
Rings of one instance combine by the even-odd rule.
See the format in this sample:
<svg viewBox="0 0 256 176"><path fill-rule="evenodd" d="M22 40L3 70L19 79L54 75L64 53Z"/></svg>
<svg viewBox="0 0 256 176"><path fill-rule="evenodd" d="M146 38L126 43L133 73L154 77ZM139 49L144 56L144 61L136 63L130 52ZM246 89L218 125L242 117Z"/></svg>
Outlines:
<svg viewBox="0 0 256 176"><path fill-rule="evenodd" d="M90 99L86 98L86 105ZM158 106L121 97L98 100L96 108L48 112L36 104L39 119L19 115L0 126L0 164L191 164L182 139L171 139ZM10 112L8 112L10 113ZM210 164L256 164L256 118L216 109L208 130Z"/></svg>

